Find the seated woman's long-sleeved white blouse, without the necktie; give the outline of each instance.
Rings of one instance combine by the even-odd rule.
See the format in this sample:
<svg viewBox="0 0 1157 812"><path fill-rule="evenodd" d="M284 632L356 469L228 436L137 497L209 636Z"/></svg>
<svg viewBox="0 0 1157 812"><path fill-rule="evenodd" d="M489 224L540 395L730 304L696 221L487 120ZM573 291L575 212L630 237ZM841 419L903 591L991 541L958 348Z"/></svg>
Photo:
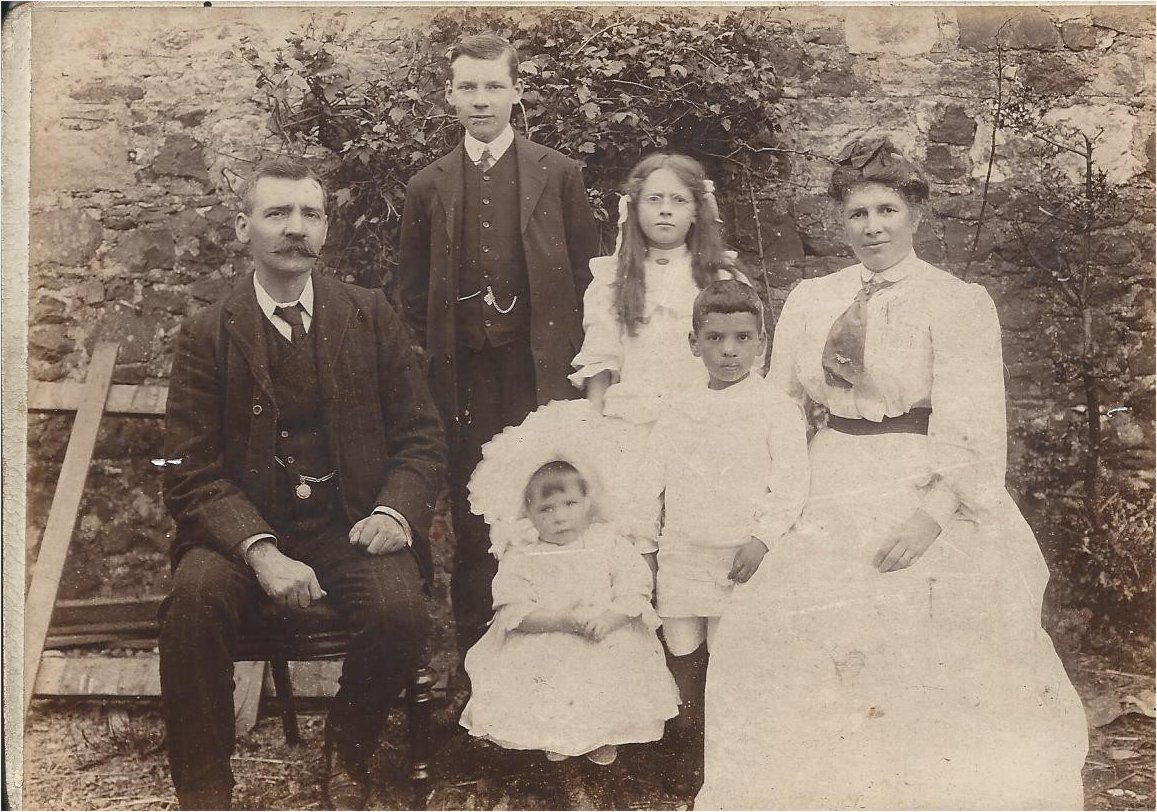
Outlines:
<svg viewBox="0 0 1157 812"><path fill-rule="evenodd" d="M801 282L775 327L767 379L797 401L841 418L880 421L931 407L923 509L941 526L958 508L980 510L1004 489L1007 434L1001 329L988 291L918 259L882 272L894 281L867 303L864 383L825 382L827 334L871 276L854 265Z"/></svg>

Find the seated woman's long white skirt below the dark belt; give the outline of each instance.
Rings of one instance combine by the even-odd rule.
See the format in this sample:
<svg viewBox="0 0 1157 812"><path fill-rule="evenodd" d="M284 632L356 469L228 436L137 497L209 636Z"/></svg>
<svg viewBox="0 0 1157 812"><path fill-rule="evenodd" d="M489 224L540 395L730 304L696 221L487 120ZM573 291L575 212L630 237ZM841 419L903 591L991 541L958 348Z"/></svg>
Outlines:
<svg viewBox="0 0 1157 812"><path fill-rule="evenodd" d="M1085 717L1011 499L882 574L927 438L825 430L811 462L801 523L715 637L695 809L1081 809Z"/></svg>

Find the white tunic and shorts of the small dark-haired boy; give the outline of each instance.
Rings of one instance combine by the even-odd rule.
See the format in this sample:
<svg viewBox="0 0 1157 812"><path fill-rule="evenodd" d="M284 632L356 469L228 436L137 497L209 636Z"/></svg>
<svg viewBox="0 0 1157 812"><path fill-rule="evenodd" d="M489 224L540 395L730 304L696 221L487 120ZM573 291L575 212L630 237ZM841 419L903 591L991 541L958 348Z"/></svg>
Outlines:
<svg viewBox="0 0 1157 812"><path fill-rule="evenodd" d="M803 414L757 374L675 398L651 431L646 504L658 534L658 613L722 614L752 537L773 547L808 499Z"/></svg>

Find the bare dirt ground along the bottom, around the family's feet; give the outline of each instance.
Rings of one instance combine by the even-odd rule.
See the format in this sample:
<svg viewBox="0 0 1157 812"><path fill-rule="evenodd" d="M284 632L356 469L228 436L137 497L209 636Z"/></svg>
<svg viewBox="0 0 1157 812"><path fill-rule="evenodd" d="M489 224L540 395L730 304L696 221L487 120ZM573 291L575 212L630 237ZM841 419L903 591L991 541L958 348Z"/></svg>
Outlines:
<svg viewBox="0 0 1157 812"><path fill-rule="evenodd" d="M1121 697L1147 695L1152 678L1110 667L1084 656L1070 667L1093 721L1114 715ZM271 706L257 728L237 743L234 809L322 809L323 708L301 717L302 744L289 747ZM445 707L435 710L433 810L684 810L691 802L669 792L670 763L661 745L621 748L619 760L597 767L582 759L547 763L540 753L503 751L471 739ZM30 810L176 809L155 702L37 701L25 729L24 807ZM410 809L405 728L393 714L375 762L371 809ZM1155 807L1154 719L1129 713L1091 726L1085 762L1090 810Z"/></svg>

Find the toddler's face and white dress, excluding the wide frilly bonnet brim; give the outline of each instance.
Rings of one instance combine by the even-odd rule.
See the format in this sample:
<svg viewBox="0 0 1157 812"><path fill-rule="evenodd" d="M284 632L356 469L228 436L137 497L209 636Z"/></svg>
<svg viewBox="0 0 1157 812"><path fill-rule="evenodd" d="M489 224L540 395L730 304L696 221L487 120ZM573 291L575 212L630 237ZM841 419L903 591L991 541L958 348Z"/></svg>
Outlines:
<svg viewBox="0 0 1157 812"><path fill-rule="evenodd" d="M499 523L494 620L466 655L460 723L502 747L609 765L618 745L659 739L678 707L650 571L594 496L590 477L552 459L525 483L522 518Z"/></svg>

